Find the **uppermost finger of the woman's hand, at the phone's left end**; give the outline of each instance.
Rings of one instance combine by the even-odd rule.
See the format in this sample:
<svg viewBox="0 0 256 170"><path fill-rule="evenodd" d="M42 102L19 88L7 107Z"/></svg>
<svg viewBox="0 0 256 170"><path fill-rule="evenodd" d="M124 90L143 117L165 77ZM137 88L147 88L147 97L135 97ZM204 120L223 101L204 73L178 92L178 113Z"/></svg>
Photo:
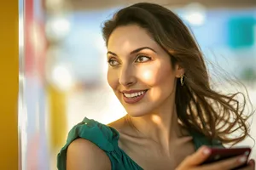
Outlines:
<svg viewBox="0 0 256 170"><path fill-rule="evenodd" d="M186 167L195 167L200 165L203 161L207 160L207 157L211 154L211 150L207 146L201 146L193 155L188 156L181 163L180 169L185 169Z"/></svg>

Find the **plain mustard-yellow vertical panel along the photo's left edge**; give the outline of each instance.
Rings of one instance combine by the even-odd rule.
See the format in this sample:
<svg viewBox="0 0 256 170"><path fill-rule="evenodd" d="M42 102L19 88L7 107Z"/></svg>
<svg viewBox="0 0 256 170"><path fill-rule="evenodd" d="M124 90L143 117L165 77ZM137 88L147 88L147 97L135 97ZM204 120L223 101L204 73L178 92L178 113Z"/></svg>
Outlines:
<svg viewBox="0 0 256 170"><path fill-rule="evenodd" d="M18 169L18 0L0 4L0 169Z"/></svg>

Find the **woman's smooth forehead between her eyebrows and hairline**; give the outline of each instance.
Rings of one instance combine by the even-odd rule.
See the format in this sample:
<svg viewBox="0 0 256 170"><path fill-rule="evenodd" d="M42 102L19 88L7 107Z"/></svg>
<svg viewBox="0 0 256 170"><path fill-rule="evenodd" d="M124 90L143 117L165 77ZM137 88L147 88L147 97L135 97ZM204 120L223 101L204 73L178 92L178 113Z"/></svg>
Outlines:
<svg viewBox="0 0 256 170"><path fill-rule="evenodd" d="M159 48L153 37L137 25L117 27L108 40L108 50L116 53L130 53L141 47Z"/></svg>

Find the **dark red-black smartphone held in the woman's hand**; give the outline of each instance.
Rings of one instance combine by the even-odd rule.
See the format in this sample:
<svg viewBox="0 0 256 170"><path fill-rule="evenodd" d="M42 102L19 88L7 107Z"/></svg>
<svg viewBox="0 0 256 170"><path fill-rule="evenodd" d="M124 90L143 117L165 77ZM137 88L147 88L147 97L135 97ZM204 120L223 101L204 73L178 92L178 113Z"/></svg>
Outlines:
<svg viewBox="0 0 256 170"><path fill-rule="evenodd" d="M252 149L250 147L236 147L236 148L210 148L211 155L204 161L202 164L208 164L215 161L222 161L228 158L232 158L235 156L247 156L247 160L251 154ZM245 164L241 165L241 167L246 167L247 161ZM239 169L241 167L236 167L235 169ZM233 169L233 170L235 170Z"/></svg>

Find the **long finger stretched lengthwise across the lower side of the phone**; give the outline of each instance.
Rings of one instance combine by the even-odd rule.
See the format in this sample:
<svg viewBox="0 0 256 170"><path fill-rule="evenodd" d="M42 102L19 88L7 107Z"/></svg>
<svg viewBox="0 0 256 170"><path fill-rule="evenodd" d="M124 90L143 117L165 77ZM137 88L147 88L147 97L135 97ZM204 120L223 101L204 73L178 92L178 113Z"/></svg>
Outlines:
<svg viewBox="0 0 256 170"><path fill-rule="evenodd" d="M239 167L247 162L247 156L236 156L224 161L216 161L211 164L201 166L204 170L213 170L213 169L233 169Z"/></svg>

